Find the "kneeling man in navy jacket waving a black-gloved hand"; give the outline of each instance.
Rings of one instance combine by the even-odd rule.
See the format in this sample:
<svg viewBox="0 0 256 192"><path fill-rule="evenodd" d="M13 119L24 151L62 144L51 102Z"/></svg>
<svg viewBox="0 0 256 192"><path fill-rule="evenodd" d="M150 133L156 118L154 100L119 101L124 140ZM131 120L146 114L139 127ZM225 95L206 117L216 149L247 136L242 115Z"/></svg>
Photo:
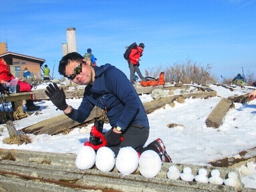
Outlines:
<svg viewBox="0 0 256 192"><path fill-rule="evenodd" d="M58 71L76 84L87 85L78 109L66 104L63 89L59 89L55 83L46 87L47 96L64 114L82 123L94 106L98 106L106 112L112 126L104 137L115 155L120 148L131 146L138 155L150 149L156 151L163 162L171 162L159 138L142 148L149 135L148 117L136 90L121 70L110 64L90 66L90 61L72 52L60 60Z"/></svg>

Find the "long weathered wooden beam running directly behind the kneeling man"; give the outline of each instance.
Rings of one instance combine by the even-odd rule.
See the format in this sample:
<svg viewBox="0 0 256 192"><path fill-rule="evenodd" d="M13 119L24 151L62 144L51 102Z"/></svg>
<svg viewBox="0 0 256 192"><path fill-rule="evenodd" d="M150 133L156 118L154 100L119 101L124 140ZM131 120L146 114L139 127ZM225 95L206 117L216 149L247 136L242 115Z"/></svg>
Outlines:
<svg viewBox="0 0 256 192"><path fill-rule="evenodd" d="M194 97L194 98L208 98L212 96L216 96L217 92L198 92L198 93L190 93L190 94L183 94L183 95L176 95L176 96L170 96L167 98L162 98L158 100L154 100L152 102L146 102L143 103L143 106L145 110L153 110L156 108L160 108L161 106L164 106L170 102L173 102L176 98L183 96L184 98ZM96 108L94 108L90 114L90 116L84 121L88 122L96 117ZM69 129L73 126L77 126L80 123L71 120L68 118L65 114L55 116L50 119L43 120L41 122L38 122L37 124L34 124L32 126L28 126L26 128L23 128L22 131L24 133L34 133L34 134L56 134L58 132L61 132L63 130Z"/></svg>

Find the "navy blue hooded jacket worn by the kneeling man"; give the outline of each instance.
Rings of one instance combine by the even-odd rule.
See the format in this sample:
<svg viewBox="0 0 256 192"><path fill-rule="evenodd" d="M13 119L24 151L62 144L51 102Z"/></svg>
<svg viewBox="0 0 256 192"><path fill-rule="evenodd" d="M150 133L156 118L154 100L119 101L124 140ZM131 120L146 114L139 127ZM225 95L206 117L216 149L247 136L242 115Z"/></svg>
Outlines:
<svg viewBox="0 0 256 192"><path fill-rule="evenodd" d="M94 66L93 85L87 85L84 98L74 109L71 119L84 122L95 105L107 111L112 127L119 126L125 130L133 124L149 128L148 117L142 102L126 75L110 64Z"/></svg>

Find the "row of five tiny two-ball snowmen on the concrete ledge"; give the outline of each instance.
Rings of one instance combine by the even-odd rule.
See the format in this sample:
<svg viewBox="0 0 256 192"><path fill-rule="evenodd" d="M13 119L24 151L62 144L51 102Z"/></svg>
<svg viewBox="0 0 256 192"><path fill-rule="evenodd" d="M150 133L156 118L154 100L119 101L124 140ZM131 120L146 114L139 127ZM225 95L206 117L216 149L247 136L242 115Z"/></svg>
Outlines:
<svg viewBox="0 0 256 192"><path fill-rule="evenodd" d="M193 181L194 179L196 182L201 182L201 183L211 183L211 184L218 184L222 185L223 182L225 185L228 186L233 186L238 188L240 186L239 182L237 181L237 174L235 172L229 172L228 173L228 178L223 180L220 177L220 171L219 170L212 170L211 171L211 177L207 178L207 171L204 168L200 168L198 170L198 175L194 176L192 174L192 170L190 167L184 167L183 172L180 173L178 168L175 165L170 166L168 172L167 172L167 177L172 180L176 180L178 178L181 178L184 181Z"/></svg>

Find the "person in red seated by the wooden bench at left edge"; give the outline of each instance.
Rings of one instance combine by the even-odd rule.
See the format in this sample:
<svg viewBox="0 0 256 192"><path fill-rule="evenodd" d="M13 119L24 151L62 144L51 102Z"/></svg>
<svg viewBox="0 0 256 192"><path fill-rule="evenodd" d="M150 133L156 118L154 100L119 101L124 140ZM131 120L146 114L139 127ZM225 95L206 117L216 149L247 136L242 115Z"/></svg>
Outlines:
<svg viewBox="0 0 256 192"><path fill-rule="evenodd" d="M10 72L10 65L12 65L12 56L4 55L0 57L0 83L6 84L10 82L15 77ZM32 86L26 82L18 81L16 86L16 92L29 92ZM26 106L28 111L38 110L40 106L35 106L33 100L26 100ZM12 102L12 107L14 109L14 102Z"/></svg>

